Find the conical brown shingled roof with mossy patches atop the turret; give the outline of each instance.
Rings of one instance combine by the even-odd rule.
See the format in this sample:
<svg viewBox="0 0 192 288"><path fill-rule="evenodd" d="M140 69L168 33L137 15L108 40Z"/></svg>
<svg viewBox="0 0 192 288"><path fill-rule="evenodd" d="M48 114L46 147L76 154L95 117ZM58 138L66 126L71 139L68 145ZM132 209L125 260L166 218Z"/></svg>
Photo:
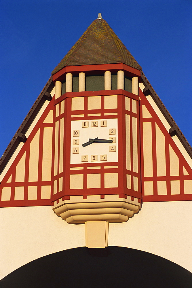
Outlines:
<svg viewBox="0 0 192 288"><path fill-rule="evenodd" d="M92 22L75 45L52 71L55 74L65 66L124 63L142 70L125 45L102 18Z"/></svg>

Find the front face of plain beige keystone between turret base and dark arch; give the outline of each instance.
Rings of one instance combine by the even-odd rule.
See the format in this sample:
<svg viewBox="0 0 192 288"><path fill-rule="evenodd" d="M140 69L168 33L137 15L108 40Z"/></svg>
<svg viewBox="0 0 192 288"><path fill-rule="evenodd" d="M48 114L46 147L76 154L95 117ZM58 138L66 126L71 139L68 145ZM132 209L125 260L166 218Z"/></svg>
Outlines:
<svg viewBox="0 0 192 288"><path fill-rule="evenodd" d="M87 221L86 234L88 248L104 248L106 221Z"/></svg>

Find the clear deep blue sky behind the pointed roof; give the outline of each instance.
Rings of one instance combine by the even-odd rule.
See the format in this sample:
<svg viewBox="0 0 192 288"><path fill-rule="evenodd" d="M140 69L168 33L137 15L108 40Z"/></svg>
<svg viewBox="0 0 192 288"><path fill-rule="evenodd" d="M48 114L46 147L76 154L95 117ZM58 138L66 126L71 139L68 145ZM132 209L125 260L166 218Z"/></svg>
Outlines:
<svg viewBox="0 0 192 288"><path fill-rule="evenodd" d="M99 12L192 145L191 0L1 0L0 10L1 155L52 70Z"/></svg>

